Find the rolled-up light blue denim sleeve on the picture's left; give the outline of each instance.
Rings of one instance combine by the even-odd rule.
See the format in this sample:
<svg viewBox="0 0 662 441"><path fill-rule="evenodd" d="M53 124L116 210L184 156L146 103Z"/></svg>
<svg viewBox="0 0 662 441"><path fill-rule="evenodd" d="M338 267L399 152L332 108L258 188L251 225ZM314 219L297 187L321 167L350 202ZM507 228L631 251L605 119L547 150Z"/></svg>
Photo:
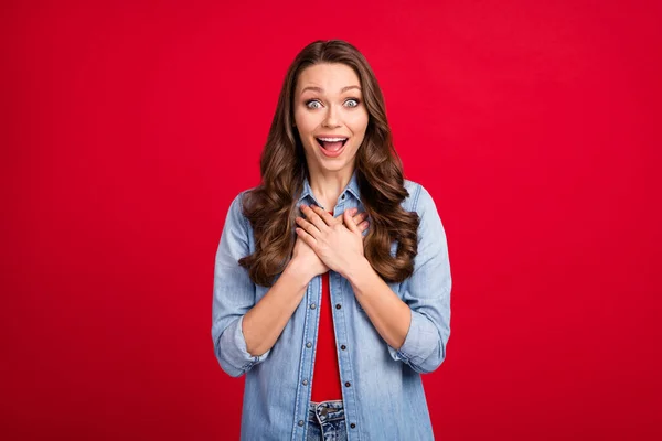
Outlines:
<svg viewBox="0 0 662 441"><path fill-rule="evenodd" d="M270 353L257 356L246 351L243 333L244 315L255 305L255 284L238 260L249 255L248 220L242 213L239 193L232 202L214 265L212 303L212 340L221 368L232 377L239 377L264 362Z"/></svg>

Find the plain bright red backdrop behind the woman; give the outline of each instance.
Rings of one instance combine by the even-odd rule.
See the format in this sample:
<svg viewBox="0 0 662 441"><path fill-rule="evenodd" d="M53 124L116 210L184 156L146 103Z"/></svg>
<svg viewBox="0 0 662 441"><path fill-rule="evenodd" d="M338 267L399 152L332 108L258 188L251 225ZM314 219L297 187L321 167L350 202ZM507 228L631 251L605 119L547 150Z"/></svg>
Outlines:
<svg viewBox="0 0 662 441"><path fill-rule="evenodd" d="M655 1L3 2L0 438L237 439L213 260L306 44L447 229L442 440L660 439Z"/></svg>

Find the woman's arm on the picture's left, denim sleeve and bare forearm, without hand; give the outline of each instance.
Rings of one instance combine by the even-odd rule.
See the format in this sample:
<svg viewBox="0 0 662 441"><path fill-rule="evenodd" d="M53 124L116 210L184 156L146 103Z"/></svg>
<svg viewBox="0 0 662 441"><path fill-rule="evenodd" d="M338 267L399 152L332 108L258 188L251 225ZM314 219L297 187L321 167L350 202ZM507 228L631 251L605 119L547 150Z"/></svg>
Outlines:
<svg viewBox="0 0 662 441"><path fill-rule="evenodd" d="M216 251L212 304L214 353L232 377L242 376L268 357L309 281L290 261L255 304L255 284L237 262L248 254L248 222L242 214L239 194L231 204Z"/></svg>

